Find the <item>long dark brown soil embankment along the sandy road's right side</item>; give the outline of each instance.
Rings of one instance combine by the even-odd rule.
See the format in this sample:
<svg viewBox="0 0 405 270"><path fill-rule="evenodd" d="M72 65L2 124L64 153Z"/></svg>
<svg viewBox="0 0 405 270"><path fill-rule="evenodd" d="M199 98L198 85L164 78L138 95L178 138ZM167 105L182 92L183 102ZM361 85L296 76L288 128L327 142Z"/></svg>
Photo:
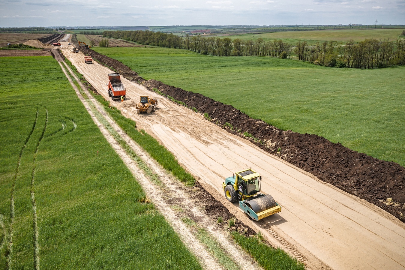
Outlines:
<svg viewBox="0 0 405 270"><path fill-rule="evenodd" d="M160 81L146 81L117 60L92 50L82 51L131 81L143 84L150 90L157 88L185 102L187 106L197 108L201 113L208 113L213 123L221 126L230 123L234 127L232 130L227 128L230 133L244 137L243 132L249 132L256 138L256 142L253 138L247 139L261 149L310 172L322 181L379 206L405 222L405 168L399 164L352 151L340 143L332 143L314 134L279 130L262 120L250 118L231 105ZM392 201L387 201L388 198Z"/></svg>

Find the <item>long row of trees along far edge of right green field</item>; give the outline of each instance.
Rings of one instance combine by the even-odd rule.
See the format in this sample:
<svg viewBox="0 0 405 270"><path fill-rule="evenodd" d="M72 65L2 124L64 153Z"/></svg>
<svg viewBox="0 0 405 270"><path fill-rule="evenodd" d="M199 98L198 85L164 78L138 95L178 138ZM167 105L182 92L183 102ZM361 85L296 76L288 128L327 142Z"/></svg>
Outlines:
<svg viewBox="0 0 405 270"><path fill-rule="evenodd" d="M143 45L156 45L166 48L187 49L201 54L215 56L271 56L291 58L296 55L299 60L330 67L349 68L382 68L405 64L404 40L376 40L366 39L355 43L325 41L308 45L306 41L298 41L291 45L283 40L265 42L262 38L256 40L233 41L219 37L205 37L200 35L184 38L174 34L152 31L104 31L104 37L130 40Z"/></svg>

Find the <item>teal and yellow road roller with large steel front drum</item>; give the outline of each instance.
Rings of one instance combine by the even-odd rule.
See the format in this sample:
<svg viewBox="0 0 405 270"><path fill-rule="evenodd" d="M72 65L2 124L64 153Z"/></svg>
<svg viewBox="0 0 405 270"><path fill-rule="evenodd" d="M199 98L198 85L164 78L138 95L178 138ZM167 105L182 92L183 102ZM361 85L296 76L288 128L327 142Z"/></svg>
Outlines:
<svg viewBox="0 0 405 270"><path fill-rule="evenodd" d="M225 198L239 201L239 208L256 221L281 212L281 206L272 196L259 193L260 181L262 176L249 168L235 172L222 183Z"/></svg>

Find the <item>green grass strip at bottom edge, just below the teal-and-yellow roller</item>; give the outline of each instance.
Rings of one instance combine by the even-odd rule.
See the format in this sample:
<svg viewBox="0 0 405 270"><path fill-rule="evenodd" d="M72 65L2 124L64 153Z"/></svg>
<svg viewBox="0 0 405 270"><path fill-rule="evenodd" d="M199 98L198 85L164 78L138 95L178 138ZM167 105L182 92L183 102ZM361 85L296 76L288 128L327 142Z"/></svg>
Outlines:
<svg viewBox="0 0 405 270"><path fill-rule="evenodd" d="M274 249L260 242L259 237L247 237L239 232L231 236L264 269L268 270L305 270L304 264L297 261L280 248Z"/></svg>

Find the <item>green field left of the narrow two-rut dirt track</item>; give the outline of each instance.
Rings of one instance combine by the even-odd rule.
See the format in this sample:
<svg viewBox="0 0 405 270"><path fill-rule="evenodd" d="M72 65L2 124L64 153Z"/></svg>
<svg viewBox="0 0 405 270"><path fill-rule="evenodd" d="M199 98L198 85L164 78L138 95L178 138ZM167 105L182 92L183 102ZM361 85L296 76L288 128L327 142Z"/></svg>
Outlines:
<svg viewBox="0 0 405 270"><path fill-rule="evenodd" d="M59 64L0 57L0 68L0 269L11 237L13 269L38 257L43 269L200 269Z"/></svg>

